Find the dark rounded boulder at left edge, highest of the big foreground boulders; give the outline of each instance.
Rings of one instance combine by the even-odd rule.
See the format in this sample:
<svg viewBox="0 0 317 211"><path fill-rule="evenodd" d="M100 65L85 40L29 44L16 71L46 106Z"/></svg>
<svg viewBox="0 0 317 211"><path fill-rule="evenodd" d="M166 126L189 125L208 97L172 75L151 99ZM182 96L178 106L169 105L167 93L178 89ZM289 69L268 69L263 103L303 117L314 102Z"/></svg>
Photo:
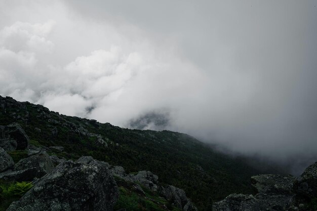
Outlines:
<svg viewBox="0 0 317 211"><path fill-rule="evenodd" d="M14 139L17 142L16 150L23 150L27 147L29 138L21 128L20 124L12 123L7 126L2 126L1 138Z"/></svg>

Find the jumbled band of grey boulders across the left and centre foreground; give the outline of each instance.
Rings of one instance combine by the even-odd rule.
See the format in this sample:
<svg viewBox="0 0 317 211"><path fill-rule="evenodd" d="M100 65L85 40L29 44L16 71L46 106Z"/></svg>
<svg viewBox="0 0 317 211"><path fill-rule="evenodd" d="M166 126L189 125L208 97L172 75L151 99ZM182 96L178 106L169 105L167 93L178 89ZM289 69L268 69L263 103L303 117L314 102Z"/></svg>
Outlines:
<svg viewBox="0 0 317 211"><path fill-rule="evenodd" d="M8 131L13 131L15 135L7 133ZM25 150L27 156L14 163L7 151L16 150L19 145L15 143L21 143L21 140L26 141L19 149ZM155 204L156 210L197 210L182 189L160 185L159 177L149 171L128 175L122 166L112 166L91 156L67 161L56 155L49 155L52 151L63 151L63 147L35 147L27 140L27 135L18 123L2 126L0 142L7 151L0 147L0 180L7 183L32 181L33 184L19 200L11 203L7 211L113 210L119 197L119 187L136 193L141 198L147 198L145 191L153 196L161 195L160 200L151 196L147 198ZM7 143L14 144L8 146ZM117 208L126 208L129 205L125 201L123 203L117 205Z"/></svg>

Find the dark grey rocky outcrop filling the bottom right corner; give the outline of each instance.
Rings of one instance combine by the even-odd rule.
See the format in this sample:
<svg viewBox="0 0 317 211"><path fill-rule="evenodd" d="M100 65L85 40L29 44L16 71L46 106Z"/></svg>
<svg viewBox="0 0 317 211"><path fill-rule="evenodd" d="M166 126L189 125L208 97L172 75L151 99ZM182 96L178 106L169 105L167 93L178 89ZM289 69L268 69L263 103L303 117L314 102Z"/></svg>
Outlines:
<svg viewBox="0 0 317 211"><path fill-rule="evenodd" d="M299 178L258 175L251 182L258 191L256 195L231 194L214 203L213 211L310 210L307 204L317 196L317 162Z"/></svg>

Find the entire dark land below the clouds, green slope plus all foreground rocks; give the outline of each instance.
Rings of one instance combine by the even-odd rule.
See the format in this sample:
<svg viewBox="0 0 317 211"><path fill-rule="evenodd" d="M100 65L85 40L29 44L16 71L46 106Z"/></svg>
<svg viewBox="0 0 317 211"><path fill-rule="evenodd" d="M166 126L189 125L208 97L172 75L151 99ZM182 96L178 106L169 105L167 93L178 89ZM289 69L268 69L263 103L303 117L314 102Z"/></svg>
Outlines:
<svg viewBox="0 0 317 211"><path fill-rule="evenodd" d="M315 172L255 176L254 189L250 177L262 172L188 135L122 129L0 96L0 211L211 210L233 192L244 194L213 210L313 210Z"/></svg>

